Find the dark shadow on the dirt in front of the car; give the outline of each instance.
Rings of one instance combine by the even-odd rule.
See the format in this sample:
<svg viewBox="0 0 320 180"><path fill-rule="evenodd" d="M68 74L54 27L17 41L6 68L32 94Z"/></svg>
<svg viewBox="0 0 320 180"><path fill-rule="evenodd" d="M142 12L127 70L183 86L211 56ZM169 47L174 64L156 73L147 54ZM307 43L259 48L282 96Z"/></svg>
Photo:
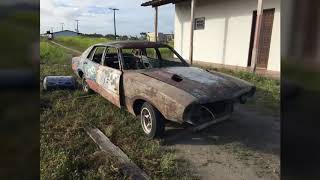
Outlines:
<svg viewBox="0 0 320 180"><path fill-rule="evenodd" d="M236 143L253 151L279 155L280 117L260 114L245 105L235 106L229 120L192 133L190 125L168 123L164 143L171 145L227 145Z"/></svg>

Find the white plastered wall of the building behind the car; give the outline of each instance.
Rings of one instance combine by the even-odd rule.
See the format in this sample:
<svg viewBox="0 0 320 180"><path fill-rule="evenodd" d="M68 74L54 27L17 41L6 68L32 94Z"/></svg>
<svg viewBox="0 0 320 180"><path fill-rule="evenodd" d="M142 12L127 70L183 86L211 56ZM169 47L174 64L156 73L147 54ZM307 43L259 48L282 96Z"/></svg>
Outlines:
<svg viewBox="0 0 320 180"><path fill-rule="evenodd" d="M275 8L268 69L280 71L280 0L265 0ZM205 29L194 31L194 60L247 67L252 13L257 0L197 0L195 18L205 17ZM189 58L190 2L175 6L175 49Z"/></svg>

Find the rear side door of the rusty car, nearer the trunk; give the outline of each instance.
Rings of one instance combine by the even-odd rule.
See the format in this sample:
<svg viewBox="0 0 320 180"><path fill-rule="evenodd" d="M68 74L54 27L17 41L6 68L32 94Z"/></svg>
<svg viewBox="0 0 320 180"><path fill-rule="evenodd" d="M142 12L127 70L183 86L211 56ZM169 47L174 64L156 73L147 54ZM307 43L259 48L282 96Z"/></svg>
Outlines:
<svg viewBox="0 0 320 180"><path fill-rule="evenodd" d="M89 87L96 92L99 92L99 85L96 81L97 71L101 65L105 49L106 47L104 46L96 46L92 48L88 57L83 62L86 82L88 83Z"/></svg>

